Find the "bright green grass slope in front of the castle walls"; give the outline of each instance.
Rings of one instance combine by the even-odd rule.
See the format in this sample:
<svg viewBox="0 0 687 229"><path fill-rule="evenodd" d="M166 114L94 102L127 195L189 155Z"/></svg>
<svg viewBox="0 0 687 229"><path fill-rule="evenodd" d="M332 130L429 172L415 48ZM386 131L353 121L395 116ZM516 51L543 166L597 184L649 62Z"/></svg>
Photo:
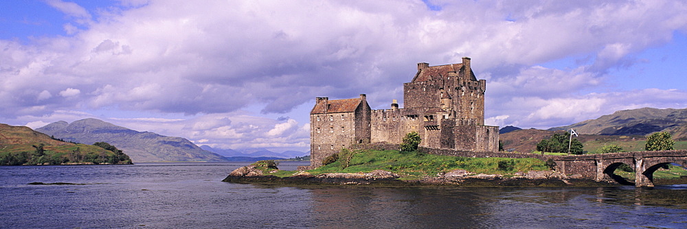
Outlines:
<svg viewBox="0 0 687 229"><path fill-rule="evenodd" d="M436 176L437 173L445 173L455 169L504 176L513 176L518 171L549 170L543 161L536 158L463 158L395 150L357 152L351 158L349 167L341 168L341 162L337 161L308 172L312 175L368 173L375 169L382 169L401 175L401 179L414 180L425 176ZM292 176L293 173L294 171L279 171L271 173L271 175L284 177Z"/></svg>

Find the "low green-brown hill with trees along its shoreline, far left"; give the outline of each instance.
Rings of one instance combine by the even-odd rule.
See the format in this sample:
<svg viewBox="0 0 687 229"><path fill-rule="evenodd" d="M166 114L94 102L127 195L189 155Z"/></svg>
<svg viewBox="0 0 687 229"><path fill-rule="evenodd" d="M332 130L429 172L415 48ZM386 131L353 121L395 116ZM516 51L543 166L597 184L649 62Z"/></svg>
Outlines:
<svg viewBox="0 0 687 229"><path fill-rule="evenodd" d="M126 153L58 141L25 126L0 123L0 165L126 164Z"/></svg>

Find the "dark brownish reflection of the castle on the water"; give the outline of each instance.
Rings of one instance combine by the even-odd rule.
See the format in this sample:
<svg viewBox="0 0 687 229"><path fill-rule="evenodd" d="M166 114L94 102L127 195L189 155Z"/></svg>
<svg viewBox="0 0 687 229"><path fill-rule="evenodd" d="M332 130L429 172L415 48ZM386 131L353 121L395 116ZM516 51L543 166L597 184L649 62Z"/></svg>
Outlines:
<svg viewBox="0 0 687 229"><path fill-rule="evenodd" d="M313 189L313 218L325 225L379 228L488 227L477 193L442 188Z"/></svg>

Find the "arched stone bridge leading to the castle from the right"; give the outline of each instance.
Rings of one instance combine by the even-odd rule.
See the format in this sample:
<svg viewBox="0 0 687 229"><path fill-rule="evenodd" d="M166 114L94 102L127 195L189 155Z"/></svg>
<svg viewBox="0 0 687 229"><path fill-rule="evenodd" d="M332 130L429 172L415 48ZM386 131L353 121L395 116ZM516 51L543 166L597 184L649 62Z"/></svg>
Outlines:
<svg viewBox="0 0 687 229"><path fill-rule="evenodd" d="M580 174L596 181L615 180L632 184L613 174L620 165L635 169L635 186L653 186L653 172L675 163L687 167L687 150L645 151L613 154L587 154L578 156L552 156L557 170L571 175Z"/></svg>

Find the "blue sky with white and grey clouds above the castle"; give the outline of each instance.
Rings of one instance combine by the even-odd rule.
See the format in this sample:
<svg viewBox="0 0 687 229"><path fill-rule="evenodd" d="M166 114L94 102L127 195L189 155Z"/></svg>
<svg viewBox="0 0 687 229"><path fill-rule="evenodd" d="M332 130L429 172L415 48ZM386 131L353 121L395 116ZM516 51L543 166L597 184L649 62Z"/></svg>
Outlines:
<svg viewBox="0 0 687 229"><path fill-rule="evenodd" d="M687 108L687 2L0 1L0 123L305 152L315 97L403 107L418 62L464 56L487 125Z"/></svg>

